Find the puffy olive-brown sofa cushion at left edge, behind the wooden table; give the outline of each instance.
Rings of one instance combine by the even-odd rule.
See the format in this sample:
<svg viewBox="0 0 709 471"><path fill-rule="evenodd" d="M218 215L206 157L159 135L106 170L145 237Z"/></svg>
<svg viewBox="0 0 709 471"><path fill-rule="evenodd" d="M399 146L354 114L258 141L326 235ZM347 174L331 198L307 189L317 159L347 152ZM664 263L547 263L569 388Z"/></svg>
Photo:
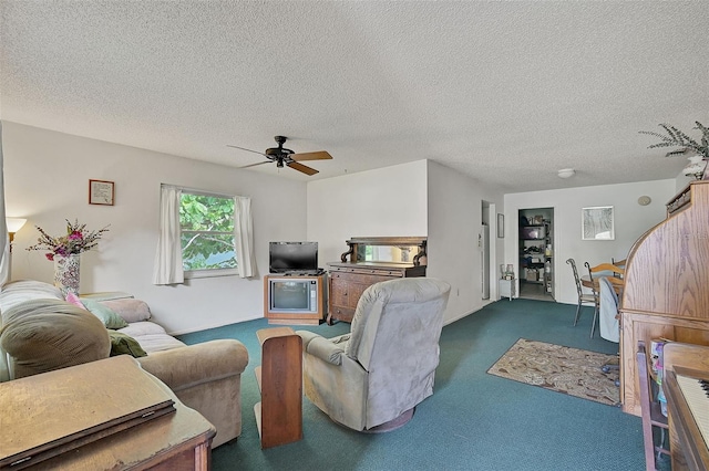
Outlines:
<svg viewBox="0 0 709 471"><path fill-rule="evenodd" d="M37 375L107 358L111 341L96 316L61 300L32 300L2 312L0 345L14 376Z"/></svg>

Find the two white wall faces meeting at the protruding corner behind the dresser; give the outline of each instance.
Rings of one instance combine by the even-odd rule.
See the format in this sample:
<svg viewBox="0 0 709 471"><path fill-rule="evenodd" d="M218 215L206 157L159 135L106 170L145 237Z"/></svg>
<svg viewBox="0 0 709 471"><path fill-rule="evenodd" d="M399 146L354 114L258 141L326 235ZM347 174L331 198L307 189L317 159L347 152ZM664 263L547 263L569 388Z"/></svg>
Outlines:
<svg viewBox="0 0 709 471"><path fill-rule="evenodd" d="M339 261L351 237L428 237L427 275L452 286L445 313L450 323L496 299L495 278L491 300L483 301L481 292L477 234L483 199L501 207L503 196L428 160L311 181L308 239L319 243L325 266ZM497 241L494 226L491 232L491 241ZM502 242L496 252L502 253ZM495 265L493 259L492 271Z"/></svg>

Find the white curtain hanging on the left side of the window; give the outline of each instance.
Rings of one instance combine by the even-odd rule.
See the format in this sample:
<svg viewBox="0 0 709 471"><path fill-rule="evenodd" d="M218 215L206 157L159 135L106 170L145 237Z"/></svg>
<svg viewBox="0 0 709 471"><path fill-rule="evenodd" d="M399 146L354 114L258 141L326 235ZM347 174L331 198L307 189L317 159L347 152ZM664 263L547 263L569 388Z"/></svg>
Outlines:
<svg viewBox="0 0 709 471"><path fill-rule="evenodd" d="M172 185L160 188L160 237L153 269L153 284L185 282L179 243L179 198L182 189Z"/></svg>

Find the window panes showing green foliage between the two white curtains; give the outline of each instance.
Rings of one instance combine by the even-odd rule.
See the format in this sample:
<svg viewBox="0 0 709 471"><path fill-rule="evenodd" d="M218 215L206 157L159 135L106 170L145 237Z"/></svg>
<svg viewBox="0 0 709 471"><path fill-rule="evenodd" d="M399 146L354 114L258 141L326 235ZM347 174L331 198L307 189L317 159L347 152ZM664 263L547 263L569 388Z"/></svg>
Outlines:
<svg viewBox="0 0 709 471"><path fill-rule="evenodd" d="M186 278L236 274L234 198L183 190L179 239Z"/></svg>

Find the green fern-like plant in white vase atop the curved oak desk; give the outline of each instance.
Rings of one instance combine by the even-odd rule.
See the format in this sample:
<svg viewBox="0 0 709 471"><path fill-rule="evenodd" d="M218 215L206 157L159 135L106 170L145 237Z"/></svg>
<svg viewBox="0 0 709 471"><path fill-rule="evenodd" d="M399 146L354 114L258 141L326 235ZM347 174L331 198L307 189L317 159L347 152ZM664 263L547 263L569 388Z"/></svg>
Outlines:
<svg viewBox="0 0 709 471"><path fill-rule="evenodd" d="M675 126L660 124L666 134L655 133L651 130L640 130L640 134L659 137L660 142L649 146L649 149L656 147L677 147L666 154L667 157L676 155L687 155L689 165L685 168L684 174L687 176L696 176L697 179L703 178L709 180L709 128L699 122L695 122L697 126L693 129L701 132L699 140L692 139L686 133L682 133Z"/></svg>

